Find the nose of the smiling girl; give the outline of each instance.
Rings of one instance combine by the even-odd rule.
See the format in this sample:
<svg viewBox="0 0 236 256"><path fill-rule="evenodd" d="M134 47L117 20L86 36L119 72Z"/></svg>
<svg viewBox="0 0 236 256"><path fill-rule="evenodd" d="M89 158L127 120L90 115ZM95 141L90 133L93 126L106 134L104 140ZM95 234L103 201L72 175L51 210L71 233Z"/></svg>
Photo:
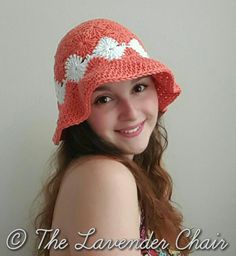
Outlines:
<svg viewBox="0 0 236 256"><path fill-rule="evenodd" d="M136 121L138 110L135 102L130 99L122 99L119 103L119 119L122 121Z"/></svg>

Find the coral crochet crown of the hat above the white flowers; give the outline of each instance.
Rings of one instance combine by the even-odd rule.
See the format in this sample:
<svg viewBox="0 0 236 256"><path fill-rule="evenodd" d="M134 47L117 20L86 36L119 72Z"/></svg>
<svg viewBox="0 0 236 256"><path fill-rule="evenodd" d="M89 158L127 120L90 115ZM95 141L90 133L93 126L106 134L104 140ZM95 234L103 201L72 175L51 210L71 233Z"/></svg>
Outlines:
<svg viewBox="0 0 236 256"><path fill-rule="evenodd" d="M136 39L143 47L141 40L123 25L108 19L88 20L71 29L59 42L55 54L55 80L65 78L65 62L71 55L82 59L90 56L99 40L102 38L114 39L118 44L128 44Z"/></svg>

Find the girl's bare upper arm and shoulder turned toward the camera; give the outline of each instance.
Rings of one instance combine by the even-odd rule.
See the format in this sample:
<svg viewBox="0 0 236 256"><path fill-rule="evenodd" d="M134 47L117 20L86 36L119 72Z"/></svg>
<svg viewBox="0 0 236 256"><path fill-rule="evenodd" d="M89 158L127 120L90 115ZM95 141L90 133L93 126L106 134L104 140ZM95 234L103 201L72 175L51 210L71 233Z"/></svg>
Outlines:
<svg viewBox="0 0 236 256"><path fill-rule="evenodd" d="M71 245L71 255L83 256L139 256L136 249L75 251L76 243L85 238L77 232L96 232L86 246L98 239L113 242L122 239L139 239L139 210L137 187L132 173L123 164L112 159L94 159L76 167L66 177L61 197L65 198L65 233Z"/></svg>

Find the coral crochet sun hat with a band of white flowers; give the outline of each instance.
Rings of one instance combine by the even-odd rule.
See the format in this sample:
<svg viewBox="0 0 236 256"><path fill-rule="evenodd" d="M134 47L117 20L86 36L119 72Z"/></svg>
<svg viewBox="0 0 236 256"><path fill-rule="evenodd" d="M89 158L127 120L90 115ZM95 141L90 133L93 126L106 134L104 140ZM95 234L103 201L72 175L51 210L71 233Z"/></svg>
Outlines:
<svg viewBox="0 0 236 256"><path fill-rule="evenodd" d="M57 145L62 131L85 121L93 91L108 82L152 75L159 111L180 94L171 70L149 57L141 40L121 24L108 19L85 21L60 41L54 64L59 117L53 136Z"/></svg>

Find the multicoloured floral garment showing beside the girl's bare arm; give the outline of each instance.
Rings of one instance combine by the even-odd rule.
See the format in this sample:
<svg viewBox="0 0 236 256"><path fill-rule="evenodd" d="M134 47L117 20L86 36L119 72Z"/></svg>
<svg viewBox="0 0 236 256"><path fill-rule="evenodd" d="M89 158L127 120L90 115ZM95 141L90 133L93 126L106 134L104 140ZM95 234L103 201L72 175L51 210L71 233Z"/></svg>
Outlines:
<svg viewBox="0 0 236 256"><path fill-rule="evenodd" d="M147 234L144 227L144 212L141 210L141 223L140 223L140 238L141 240L147 239ZM181 256L180 251L173 251L170 249L162 250L161 248L157 249L142 249L141 253L143 256Z"/></svg>

